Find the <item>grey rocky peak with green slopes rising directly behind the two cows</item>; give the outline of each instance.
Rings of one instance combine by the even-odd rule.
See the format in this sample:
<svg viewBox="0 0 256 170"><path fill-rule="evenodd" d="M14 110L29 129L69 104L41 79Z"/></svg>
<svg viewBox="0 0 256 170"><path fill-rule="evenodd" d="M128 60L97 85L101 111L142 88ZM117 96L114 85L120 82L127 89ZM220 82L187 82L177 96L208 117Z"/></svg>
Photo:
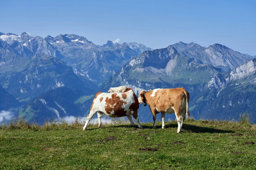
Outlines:
<svg viewBox="0 0 256 170"><path fill-rule="evenodd" d="M136 93L139 93L143 89L157 88L157 83L208 82L212 75L218 73L220 70L214 66L197 64L188 56L179 55L173 46L168 46L164 49L145 51L133 58L109 78L103 87L108 89L110 86L124 85L132 87Z"/></svg>

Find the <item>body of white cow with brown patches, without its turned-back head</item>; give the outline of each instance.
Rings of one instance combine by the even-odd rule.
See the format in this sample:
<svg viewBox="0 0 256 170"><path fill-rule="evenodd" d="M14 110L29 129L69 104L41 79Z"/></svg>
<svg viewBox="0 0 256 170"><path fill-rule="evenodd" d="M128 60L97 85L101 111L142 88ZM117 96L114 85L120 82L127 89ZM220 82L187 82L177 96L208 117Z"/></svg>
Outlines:
<svg viewBox="0 0 256 170"><path fill-rule="evenodd" d="M132 115L139 128L143 128L139 122L138 109L138 98L131 88L128 88L124 93L98 92L93 99L91 110L87 116L83 130L86 130L87 124L96 113L99 122L98 127L101 126L101 116L103 115L111 118L127 116L131 125L135 126L131 119Z"/></svg>

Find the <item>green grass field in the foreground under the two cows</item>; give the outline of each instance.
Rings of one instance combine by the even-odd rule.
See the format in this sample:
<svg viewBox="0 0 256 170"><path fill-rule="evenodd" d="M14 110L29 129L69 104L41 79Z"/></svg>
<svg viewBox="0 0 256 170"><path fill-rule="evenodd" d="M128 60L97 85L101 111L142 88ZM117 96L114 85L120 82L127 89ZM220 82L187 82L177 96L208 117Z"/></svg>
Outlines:
<svg viewBox="0 0 256 170"><path fill-rule="evenodd" d="M142 125L5 125L0 169L256 169L256 146L246 143L256 143L256 125L185 120L180 134L175 121Z"/></svg>

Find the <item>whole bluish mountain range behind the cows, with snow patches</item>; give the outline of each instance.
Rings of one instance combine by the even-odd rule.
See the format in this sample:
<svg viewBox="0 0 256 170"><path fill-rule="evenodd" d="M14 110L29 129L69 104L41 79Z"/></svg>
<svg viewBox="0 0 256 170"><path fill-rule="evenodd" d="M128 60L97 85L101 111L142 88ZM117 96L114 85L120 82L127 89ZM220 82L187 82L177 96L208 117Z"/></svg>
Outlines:
<svg viewBox="0 0 256 170"><path fill-rule="evenodd" d="M241 112L255 109L251 58L221 44L179 42L153 50L112 41L98 46L75 34L42 38L0 33L0 94L9 98L2 109L16 108L20 116L36 120L86 116L94 94L110 87L128 86L136 94L184 87L194 118L237 120ZM152 121L149 113L148 106L140 107L142 121Z"/></svg>

